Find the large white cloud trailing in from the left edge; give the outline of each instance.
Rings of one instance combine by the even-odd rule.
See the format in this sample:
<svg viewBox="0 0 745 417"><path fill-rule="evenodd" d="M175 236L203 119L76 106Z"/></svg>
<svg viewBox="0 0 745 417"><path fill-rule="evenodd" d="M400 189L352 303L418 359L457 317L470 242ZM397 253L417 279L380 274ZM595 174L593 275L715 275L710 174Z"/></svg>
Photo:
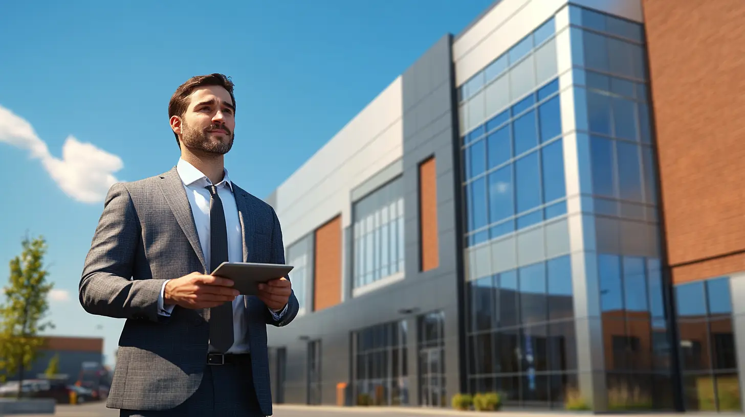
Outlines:
<svg viewBox="0 0 745 417"><path fill-rule="evenodd" d="M82 203L97 203L117 182L113 173L124 167L116 155L68 136L62 147L62 159L49 153L28 121L0 106L0 142L28 150L39 159L49 176L67 195Z"/></svg>

